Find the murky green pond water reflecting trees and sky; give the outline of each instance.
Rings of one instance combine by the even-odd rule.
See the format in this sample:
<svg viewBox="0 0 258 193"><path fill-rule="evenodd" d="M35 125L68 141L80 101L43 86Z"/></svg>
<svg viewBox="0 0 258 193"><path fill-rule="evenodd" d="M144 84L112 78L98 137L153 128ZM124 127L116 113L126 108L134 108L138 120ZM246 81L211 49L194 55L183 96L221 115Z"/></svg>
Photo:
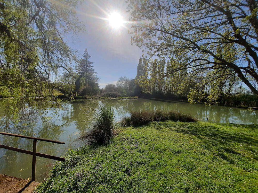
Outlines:
<svg viewBox="0 0 258 193"><path fill-rule="evenodd" d="M63 109L47 109L43 114L39 110L26 110L23 121L15 123L5 115L5 101L0 101L0 131L27 136L53 139L65 142L64 145L38 141L37 152L65 156L70 149L82 146L75 141L80 132L88 128L98 103L110 103L116 107L116 120L131 109L178 110L191 114L200 121L216 123L258 124L258 110L239 109L221 106L205 106L183 102L161 102L148 99L133 100L76 100L63 101ZM33 140L0 135L0 144L32 151ZM32 156L0 148L0 173L20 178L31 177ZM55 161L37 157L36 181L41 182L48 176Z"/></svg>

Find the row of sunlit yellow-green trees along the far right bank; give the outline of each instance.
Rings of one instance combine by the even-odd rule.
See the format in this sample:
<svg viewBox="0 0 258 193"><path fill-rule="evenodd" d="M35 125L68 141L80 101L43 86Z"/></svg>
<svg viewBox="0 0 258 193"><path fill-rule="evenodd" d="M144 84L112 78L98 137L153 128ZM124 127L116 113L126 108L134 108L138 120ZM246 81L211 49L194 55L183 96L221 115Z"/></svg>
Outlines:
<svg viewBox="0 0 258 193"><path fill-rule="evenodd" d="M237 76L222 76L207 81L200 74L186 75L186 69L166 74L179 65L179 60L174 58L167 61L140 58L135 77L135 95L223 106L258 106L258 97L248 91ZM209 73L218 74L214 71Z"/></svg>

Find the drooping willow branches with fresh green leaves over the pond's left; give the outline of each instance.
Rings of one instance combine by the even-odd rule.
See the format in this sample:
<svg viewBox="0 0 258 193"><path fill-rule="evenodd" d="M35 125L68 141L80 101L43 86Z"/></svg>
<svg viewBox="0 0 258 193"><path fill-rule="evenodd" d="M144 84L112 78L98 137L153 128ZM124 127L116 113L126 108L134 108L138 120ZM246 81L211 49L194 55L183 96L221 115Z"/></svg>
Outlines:
<svg viewBox="0 0 258 193"><path fill-rule="evenodd" d="M82 30L72 0L0 1L0 97L15 113L25 106L53 105L51 75L70 72L74 51L64 42L67 33Z"/></svg>

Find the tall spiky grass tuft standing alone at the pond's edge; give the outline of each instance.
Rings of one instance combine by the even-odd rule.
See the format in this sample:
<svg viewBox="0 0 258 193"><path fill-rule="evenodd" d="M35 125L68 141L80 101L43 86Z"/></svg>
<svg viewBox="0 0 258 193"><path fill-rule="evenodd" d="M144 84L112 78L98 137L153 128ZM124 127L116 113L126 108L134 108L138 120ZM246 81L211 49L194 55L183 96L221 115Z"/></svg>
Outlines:
<svg viewBox="0 0 258 193"><path fill-rule="evenodd" d="M87 140L96 144L108 144L115 134L115 107L99 104L93 115L90 130L82 134L78 140Z"/></svg>

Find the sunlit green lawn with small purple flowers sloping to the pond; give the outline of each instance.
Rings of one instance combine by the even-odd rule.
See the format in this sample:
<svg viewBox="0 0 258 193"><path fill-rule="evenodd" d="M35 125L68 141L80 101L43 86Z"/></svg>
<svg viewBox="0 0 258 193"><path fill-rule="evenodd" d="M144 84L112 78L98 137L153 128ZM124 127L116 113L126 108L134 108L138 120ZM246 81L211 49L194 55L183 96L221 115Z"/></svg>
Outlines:
<svg viewBox="0 0 258 193"><path fill-rule="evenodd" d="M38 192L258 192L258 126L150 122L71 150Z"/></svg>

